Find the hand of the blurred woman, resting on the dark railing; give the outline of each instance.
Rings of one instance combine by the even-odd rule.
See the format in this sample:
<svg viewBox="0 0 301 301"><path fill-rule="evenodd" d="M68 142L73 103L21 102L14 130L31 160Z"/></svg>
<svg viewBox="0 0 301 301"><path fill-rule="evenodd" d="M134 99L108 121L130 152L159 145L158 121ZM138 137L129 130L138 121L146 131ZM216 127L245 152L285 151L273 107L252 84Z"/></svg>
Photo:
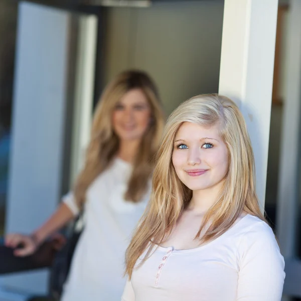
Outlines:
<svg viewBox="0 0 301 301"><path fill-rule="evenodd" d="M6 235L5 245L15 249L14 255L20 257L32 255L38 248L38 243L33 236L18 233Z"/></svg>

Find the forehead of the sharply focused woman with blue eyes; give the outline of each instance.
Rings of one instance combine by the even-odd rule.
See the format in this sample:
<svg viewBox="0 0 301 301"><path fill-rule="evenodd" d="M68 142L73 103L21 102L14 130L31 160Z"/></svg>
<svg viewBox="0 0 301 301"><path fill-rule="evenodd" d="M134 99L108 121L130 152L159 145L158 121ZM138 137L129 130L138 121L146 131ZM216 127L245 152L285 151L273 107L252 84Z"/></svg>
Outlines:
<svg viewBox="0 0 301 301"><path fill-rule="evenodd" d="M192 122L184 122L178 129L175 140L193 140L202 138L220 139L218 124L205 126Z"/></svg>

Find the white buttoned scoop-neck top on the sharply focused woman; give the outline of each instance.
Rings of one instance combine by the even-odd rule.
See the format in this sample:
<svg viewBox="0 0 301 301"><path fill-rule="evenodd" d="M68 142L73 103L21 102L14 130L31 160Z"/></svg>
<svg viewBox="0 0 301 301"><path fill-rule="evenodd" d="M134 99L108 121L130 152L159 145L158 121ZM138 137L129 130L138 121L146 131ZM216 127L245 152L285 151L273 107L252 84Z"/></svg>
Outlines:
<svg viewBox="0 0 301 301"><path fill-rule="evenodd" d="M121 299L280 301L283 270L284 260L271 228L246 215L204 246L189 250L159 246L134 269Z"/></svg>

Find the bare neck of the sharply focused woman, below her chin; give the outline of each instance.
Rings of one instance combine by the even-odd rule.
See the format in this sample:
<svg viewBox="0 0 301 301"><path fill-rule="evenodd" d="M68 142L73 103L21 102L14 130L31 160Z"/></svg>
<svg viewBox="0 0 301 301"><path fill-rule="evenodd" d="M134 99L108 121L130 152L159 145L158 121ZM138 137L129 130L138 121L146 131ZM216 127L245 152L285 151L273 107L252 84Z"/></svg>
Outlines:
<svg viewBox="0 0 301 301"><path fill-rule="evenodd" d="M205 215L207 211L217 201L220 191L223 188L223 182L204 190L194 190L188 210L197 214Z"/></svg>

